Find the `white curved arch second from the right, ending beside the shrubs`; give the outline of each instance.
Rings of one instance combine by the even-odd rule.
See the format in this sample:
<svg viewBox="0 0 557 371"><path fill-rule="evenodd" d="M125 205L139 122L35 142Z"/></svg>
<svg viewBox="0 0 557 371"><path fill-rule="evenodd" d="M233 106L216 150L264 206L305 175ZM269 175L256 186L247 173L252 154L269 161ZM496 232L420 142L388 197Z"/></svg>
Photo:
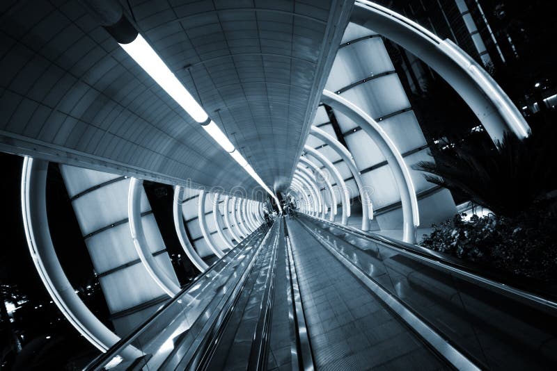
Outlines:
<svg viewBox="0 0 557 371"><path fill-rule="evenodd" d="M389 135L383 130L370 115L365 113L361 108L340 97L334 92L323 90L321 100L324 104L340 111L356 124L375 142L379 150L385 156L391 172L400 192L400 201L402 203L402 219L403 219L403 240L409 243L416 243L416 230L420 225L420 212L418 210L418 199L416 190L412 182L410 171L405 163L402 154L396 148L395 144L389 138Z"/></svg>

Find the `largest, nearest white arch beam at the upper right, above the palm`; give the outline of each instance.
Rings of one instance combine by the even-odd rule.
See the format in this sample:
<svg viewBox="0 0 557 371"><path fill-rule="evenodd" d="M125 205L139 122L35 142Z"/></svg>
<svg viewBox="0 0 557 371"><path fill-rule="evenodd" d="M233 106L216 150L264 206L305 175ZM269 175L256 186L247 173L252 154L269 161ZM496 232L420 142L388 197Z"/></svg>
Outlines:
<svg viewBox="0 0 557 371"><path fill-rule="evenodd" d="M505 131L519 138L530 127L501 87L466 52L388 8L356 0L351 21L393 40L434 69L464 99L496 142Z"/></svg>

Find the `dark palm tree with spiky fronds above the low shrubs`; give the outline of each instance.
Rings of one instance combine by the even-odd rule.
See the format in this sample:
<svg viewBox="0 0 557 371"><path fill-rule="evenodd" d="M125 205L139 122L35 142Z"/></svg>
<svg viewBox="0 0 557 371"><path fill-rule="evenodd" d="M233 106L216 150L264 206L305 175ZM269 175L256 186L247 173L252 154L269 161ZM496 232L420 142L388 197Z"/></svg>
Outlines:
<svg viewBox="0 0 557 371"><path fill-rule="evenodd" d="M414 169L497 215L515 217L557 188L555 134L550 126L524 140L507 133L495 147L460 140L439 150L435 162L422 161Z"/></svg>

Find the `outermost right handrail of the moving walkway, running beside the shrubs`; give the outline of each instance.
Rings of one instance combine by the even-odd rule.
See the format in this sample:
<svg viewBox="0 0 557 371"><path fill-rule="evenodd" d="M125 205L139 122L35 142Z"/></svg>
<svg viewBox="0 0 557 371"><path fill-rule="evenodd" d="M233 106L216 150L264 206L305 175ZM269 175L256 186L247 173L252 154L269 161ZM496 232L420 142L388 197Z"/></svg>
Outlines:
<svg viewBox="0 0 557 371"><path fill-rule="evenodd" d="M298 213L298 215L302 215L303 217L306 217L308 219L315 220L316 222L329 224L330 226L341 229L348 233L352 233L353 235L372 240L372 242L378 242L384 247L393 249L396 252L401 252L402 254L410 256L411 258L423 261L430 265L435 265L442 270L448 270L469 281L479 283L482 286L488 286L489 288L494 288L495 290L503 293L503 295L505 296L519 299L519 301L523 302L524 304L534 306L535 308L538 308L551 315L557 315L557 302L552 299L541 297L537 293L528 292L526 290L523 290L522 288L519 288L521 285L519 283L515 284L513 279L505 278L503 280L512 282L512 286L510 286L499 281L501 277L498 277L496 274L486 274L487 272L485 272L485 270L480 270L476 265L460 261L459 259L448 256L447 254L434 252L433 250L426 249L425 247L411 245L407 242L396 240L395 238L380 236L376 233L362 231L361 229L356 229L352 226L345 226L336 222L320 219L304 213ZM487 275L489 275L490 277L485 277ZM552 296L547 292L542 292L542 294L550 297Z"/></svg>

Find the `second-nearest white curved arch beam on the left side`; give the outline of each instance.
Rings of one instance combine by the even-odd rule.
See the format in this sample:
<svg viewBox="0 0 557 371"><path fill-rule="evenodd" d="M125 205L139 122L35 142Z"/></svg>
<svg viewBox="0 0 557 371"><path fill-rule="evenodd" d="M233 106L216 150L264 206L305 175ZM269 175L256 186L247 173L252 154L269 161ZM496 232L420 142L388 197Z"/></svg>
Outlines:
<svg viewBox="0 0 557 371"><path fill-rule="evenodd" d="M139 259L151 278L166 292L166 295L174 297L174 295L180 292L180 286L172 281L171 277L168 277L168 274L155 261L145 237L145 231L143 231L143 223L141 222L142 190L143 180L137 178L130 179L130 189L127 193L127 217L129 218L132 240L134 241Z"/></svg>

